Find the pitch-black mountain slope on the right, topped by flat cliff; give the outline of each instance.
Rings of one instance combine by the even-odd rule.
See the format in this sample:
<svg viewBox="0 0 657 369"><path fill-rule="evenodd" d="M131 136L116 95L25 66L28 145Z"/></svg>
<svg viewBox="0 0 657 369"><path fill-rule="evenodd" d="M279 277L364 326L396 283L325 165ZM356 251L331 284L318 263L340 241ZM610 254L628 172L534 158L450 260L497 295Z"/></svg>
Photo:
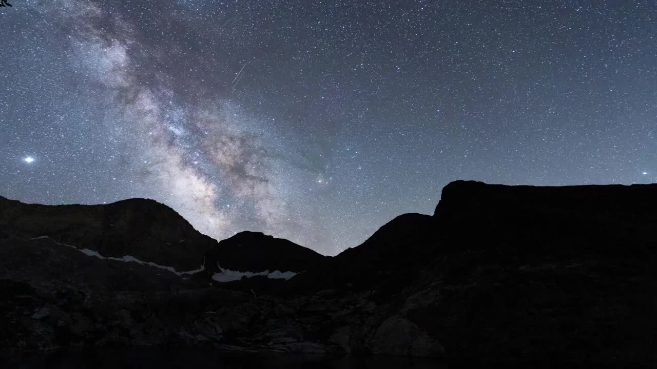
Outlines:
<svg viewBox="0 0 657 369"><path fill-rule="evenodd" d="M426 334L456 361L655 362L656 205L657 185L457 181L433 217L397 217L288 292L367 295L366 351L417 330L405 352L435 353Z"/></svg>

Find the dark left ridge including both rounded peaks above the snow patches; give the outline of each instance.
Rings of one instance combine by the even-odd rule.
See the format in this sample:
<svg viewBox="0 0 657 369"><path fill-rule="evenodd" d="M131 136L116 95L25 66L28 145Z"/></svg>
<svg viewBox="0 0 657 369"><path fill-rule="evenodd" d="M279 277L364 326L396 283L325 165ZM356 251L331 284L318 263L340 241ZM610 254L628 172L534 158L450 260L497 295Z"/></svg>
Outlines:
<svg viewBox="0 0 657 369"><path fill-rule="evenodd" d="M219 267L302 272L324 259L313 250L260 232L240 232L217 242L170 207L139 198L106 205L44 206L0 197L0 232L96 251L91 255L95 257L134 257L177 272L200 267L205 274L219 272Z"/></svg>

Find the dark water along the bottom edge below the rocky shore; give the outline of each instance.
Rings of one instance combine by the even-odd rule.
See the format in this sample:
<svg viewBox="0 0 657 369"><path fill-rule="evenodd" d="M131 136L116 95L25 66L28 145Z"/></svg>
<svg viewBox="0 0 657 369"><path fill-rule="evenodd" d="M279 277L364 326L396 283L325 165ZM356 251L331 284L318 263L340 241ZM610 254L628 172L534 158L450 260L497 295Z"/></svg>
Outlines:
<svg viewBox="0 0 657 369"><path fill-rule="evenodd" d="M93 349L5 359L3 368L413 368L447 369L429 358L360 357L278 353L225 353L210 349Z"/></svg>

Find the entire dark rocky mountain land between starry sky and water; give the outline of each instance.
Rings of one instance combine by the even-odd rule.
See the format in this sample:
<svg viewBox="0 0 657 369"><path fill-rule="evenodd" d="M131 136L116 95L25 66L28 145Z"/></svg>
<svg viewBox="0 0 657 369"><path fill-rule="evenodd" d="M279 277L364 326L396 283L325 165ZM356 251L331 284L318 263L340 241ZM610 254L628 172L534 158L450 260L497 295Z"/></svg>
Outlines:
<svg viewBox="0 0 657 369"><path fill-rule="evenodd" d="M99 345L657 364L657 185L456 181L323 257L132 199L0 198L0 352Z"/></svg>

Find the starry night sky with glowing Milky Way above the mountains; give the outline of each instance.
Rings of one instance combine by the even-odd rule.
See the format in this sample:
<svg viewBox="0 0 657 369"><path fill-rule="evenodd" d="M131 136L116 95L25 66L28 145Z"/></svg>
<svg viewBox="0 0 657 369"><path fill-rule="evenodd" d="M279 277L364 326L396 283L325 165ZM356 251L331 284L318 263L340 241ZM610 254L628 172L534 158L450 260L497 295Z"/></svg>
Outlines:
<svg viewBox="0 0 657 369"><path fill-rule="evenodd" d="M0 195L335 255L456 179L657 182L657 3L9 0Z"/></svg>

